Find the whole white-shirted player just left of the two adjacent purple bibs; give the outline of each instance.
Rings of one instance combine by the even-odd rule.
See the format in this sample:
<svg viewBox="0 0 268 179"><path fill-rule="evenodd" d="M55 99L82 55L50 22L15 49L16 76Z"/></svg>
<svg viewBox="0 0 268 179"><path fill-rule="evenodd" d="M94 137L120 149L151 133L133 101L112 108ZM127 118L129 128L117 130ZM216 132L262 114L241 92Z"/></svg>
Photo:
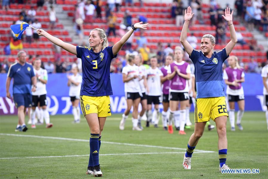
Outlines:
<svg viewBox="0 0 268 179"><path fill-rule="evenodd" d="M163 73L160 69L157 68L157 58L151 57L150 59L151 67L146 70L146 79L147 79L147 122L146 127L149 127L149 123L154 122L154 127L158 127L159 122L159 104L162 102L161 100L161 80L163 78ZM154 104L154 116L155 118L152 120L152 103Z"/></svg>

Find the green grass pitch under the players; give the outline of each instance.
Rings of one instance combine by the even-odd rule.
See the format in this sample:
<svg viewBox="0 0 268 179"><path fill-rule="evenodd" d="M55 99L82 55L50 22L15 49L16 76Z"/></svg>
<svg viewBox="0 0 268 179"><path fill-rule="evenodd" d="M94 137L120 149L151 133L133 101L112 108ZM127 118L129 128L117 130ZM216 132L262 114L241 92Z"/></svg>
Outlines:
<svg viewBox="0 0 268 179"><path fill-rule="evenodd" d="M205 129L193 153L192 169L185 170L182 167L183 155L193 127L185 130L185 136L178 135L177 131L168 134L161 126L132 131L129 117L125 130L120 131L120 119L121 114L108 117L103 130L100 148L103 178L268 178L268 133L264 112L245 112L243 131L230 131L227 121L227 165L235 169L260 169L259 174L219 172L216 130ZM193 123L193 113L190 119ZM1 116L0 178L92 178L92 175L86 175L89 127L84 118L80 124L72 124L72 120L71 115L51 116L54 126L50 129L43 125L27 132L15 132L17 117ZM142 124L144 126L145 122Z"/></svg>

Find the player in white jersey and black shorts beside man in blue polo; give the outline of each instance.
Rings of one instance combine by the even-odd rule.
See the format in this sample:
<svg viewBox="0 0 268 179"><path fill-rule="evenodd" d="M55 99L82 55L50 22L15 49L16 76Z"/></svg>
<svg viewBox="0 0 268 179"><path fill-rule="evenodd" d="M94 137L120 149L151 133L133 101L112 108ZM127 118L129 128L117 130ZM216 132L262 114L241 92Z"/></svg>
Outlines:
<svg viewBox="0 0 268 179"><path fill-rule="evenodd" d="M47 110L47 70L41 68L41 59L35 59L34 65L33 65L33 71L37 79L36 83L36 91L32 92L32 128L36 128L35 126L35 109L38 106L38 102L40 103L40 107L42 112L40 117L40 122L43 123L43 120L45 119L46 122L46 128L51 128L53 126L52 123L50 123L50 117Z"/></svg>

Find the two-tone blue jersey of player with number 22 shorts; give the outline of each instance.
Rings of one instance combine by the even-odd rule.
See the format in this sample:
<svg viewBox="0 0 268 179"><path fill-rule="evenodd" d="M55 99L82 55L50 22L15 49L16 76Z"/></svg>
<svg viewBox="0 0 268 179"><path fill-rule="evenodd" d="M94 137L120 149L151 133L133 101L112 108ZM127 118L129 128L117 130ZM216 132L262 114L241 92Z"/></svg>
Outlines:
<svg viewBox="0 0 268 179"><path fill-rule="evenodd" d="M207 58L202 51L193 49L190 59L195 69L196 98L225 96L222 64L228 57L225 48L213 52L210 58Z"/></svg>

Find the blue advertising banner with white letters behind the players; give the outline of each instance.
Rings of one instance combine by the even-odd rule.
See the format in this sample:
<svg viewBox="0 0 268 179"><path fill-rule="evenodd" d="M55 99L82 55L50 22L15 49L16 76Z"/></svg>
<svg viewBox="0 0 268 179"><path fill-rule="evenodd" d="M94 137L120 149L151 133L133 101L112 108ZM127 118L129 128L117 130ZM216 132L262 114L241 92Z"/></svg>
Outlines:
<svg viewBox="0 0 268 179"><path fill-rule="evenodd" d="M13 100L6 97L6 78L7 74L0 74L0 115L17 113ZM122 74L111 74L111 84L113 89L113 95L110 97L111 112L123 113L127 105L124 97ZM245 74L245 82L242 85L245 94L245 110L265 111L266 106L263 106L261 75ZM10 93L12 94L12 82ZM47 107L51 115L72 114L72 103L68 94L69 87L67 86L66 74L49 74L47 82ZM162 109L162 105L160 105L160 109ZM236 109L238 109L237 106ZM141 110L141 105L139 106L139 110ZM193 110L194 105L191 107L191 111Z"/></svg>

